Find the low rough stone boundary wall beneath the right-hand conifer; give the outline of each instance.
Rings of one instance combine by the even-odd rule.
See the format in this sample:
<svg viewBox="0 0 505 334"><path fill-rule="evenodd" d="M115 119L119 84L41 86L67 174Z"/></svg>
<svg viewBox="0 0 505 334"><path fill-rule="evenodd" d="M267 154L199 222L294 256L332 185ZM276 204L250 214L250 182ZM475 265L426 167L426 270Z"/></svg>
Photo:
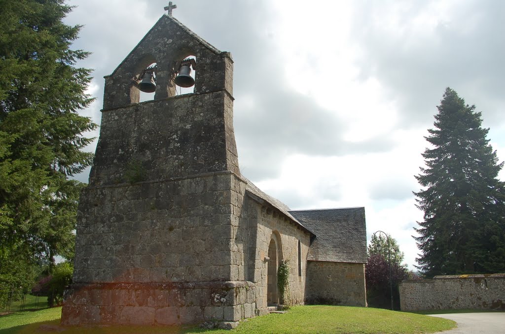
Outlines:
<svg viewBox="0 0 505 334"><path fill-rule="evenodd" d="M402 311L505 310L505 274L435 276L400 283Z"/></svg>

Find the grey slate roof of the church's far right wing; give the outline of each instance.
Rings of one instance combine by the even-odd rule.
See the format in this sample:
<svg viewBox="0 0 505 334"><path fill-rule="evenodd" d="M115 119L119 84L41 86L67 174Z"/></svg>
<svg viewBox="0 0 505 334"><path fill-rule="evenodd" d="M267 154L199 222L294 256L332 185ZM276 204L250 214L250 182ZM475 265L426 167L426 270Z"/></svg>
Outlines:
<svg viewBox="0 0 505 334"><path fill-rule="evenodd" d="M289 213L316 235L309 248L308 260L367 262L365 208L296 210Z"/></svg>

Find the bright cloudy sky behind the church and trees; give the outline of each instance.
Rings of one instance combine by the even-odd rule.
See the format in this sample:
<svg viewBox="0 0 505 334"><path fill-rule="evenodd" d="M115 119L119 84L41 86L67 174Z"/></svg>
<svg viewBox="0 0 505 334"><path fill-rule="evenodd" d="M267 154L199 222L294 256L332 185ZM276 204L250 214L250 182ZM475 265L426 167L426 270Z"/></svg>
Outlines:
<svg viewBox="0 0 505 334"><path fill-rule="evenodd" d="M68 3L77 7L66 22L84 25L73 47L93 53L79 63L94 69L96 97L82 114L99 124L103 77L168 1ZM233 56L242 174L291 209L364 206L368 237L391 234L410 268L413 227L422 220L414 175L445 87L482 111L505 160L505 2L174 3L174 17Z"/></svg>

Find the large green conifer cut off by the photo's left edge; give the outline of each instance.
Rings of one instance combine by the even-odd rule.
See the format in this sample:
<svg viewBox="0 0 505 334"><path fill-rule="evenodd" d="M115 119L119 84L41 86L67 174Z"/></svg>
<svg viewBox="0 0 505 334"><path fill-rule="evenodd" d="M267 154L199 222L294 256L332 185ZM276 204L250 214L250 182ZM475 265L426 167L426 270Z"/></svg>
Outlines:
<svg viewBox="0 0 505 334"><path fill-rule="evenodd" d="M0 288L29 285L30 264L73 256L82 184L92 162L78 110L90 70L72 50L80 26L63 23L63 0L0 0ZM33 276L33 275L31 275ZM25 277L19 282L19 277Z"/></svg>

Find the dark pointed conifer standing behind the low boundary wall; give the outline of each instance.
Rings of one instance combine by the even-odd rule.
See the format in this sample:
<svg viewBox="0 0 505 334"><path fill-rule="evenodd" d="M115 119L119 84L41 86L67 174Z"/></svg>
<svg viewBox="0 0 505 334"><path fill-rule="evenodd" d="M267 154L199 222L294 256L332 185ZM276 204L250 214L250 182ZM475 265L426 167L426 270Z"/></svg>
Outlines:
<svg viewBox="0 0 505 334"><path fill-rule="evenodd" d="M425 276L505 271L503 163L486 139L481 113L450 88L435 115L423 153L426 168L414 192L424 211L415 237Z"/></svg>

